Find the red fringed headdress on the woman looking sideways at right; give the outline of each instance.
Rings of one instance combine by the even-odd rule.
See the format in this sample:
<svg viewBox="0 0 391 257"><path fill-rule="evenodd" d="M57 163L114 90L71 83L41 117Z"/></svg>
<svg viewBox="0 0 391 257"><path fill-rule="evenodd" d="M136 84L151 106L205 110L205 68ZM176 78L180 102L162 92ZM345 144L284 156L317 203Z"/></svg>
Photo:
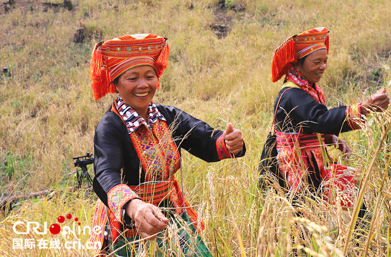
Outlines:
<svg viewBox="0 0 391 257"><path fill-rule="evenodd" d="M313 28L286 39L273 53L273 82L281 79L298 59L319 49L326 49L328 54L328 30L325 27Z"/></svg>

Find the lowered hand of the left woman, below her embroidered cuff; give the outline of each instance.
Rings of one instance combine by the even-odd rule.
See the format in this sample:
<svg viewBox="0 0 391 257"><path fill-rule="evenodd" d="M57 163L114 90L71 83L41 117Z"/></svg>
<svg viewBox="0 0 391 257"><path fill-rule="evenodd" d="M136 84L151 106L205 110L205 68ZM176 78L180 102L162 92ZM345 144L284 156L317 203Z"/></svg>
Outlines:
<svg viewBox="0 0 391 257"><path fill-rule="evenodd" d="M156 238L157 233L167 228L168 218L153 204L140 199L132 199L126 206L126 214L134 221L137 233L148 240Z"/></svg>

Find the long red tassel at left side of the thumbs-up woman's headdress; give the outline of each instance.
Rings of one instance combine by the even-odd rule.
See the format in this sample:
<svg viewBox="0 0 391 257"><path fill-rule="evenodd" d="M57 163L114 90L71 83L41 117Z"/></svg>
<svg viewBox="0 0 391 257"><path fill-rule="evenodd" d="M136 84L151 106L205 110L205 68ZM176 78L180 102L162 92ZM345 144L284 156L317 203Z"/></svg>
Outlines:
<svg viewBox="0 0 391 257"><path fill-rule="evenodd" d="M115 86L109 86L110 74L109 70L103 65L99 43L95 45L92 51L91 63L89 65L89 78L95 101L104 97L107 93L115 93Z"/></svg>

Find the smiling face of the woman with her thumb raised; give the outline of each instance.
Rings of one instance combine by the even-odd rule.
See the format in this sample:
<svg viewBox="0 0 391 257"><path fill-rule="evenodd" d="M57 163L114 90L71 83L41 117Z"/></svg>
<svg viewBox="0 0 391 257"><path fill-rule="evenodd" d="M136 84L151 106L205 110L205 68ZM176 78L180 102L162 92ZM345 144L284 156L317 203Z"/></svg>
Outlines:
<svg viewBox="0 0 391 257"><path fill-rule="evenodd" d="M125 103L142 114L148 110L155 95L158 78L152 66L141 65L124 72L117 84L115 86Z"/></svg>

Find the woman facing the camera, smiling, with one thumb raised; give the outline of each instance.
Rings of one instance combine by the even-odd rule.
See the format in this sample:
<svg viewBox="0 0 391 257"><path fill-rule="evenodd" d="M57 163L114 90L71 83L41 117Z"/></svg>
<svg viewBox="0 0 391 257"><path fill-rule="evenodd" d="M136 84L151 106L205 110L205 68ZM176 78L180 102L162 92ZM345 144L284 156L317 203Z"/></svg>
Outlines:
<svg viewBox="0 0 391 257"><path fill-rule="evenodd" d="M93 188L99 200L94 226L101 228L89 241L95 253L140 236L155 238L166 231L174 213L202 230L203 223L196 223L197 214L175 179L181 170L180 149L208 162L245 153L241 132L231 124L225 131L215 130L176 107L153 103L168 56L167 39L153 34L121 36L93 50L90 79L95 100L119 93L95 130ZM201 243L190 247L186 233L178 236L180 249L175 251L190 256L202 248L199 256L210 256ZM131 250L139 248L138 243L130 245Z"/></svg>

